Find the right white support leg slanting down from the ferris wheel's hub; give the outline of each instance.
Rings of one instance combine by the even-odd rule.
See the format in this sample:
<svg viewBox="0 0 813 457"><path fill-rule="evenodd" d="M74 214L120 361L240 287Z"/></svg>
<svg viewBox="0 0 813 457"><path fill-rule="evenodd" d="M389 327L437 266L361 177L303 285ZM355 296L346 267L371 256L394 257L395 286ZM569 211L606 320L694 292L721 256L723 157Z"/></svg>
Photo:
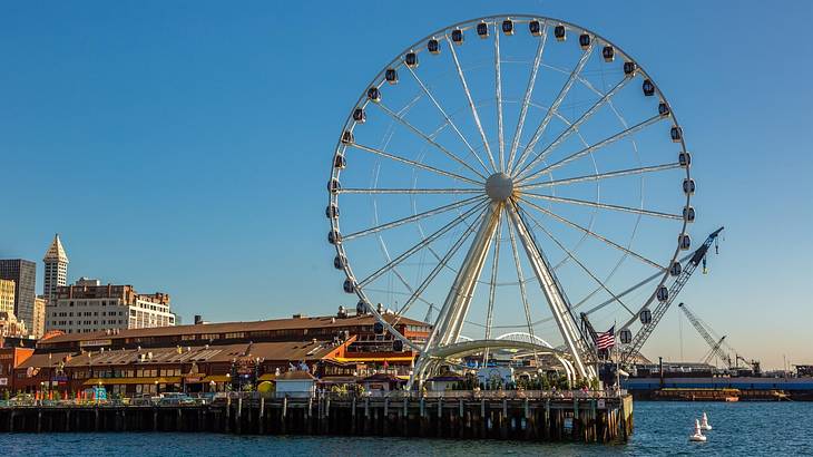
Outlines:
<svg viewBox="0 0 813 457"><path fill-rule="evenodd" d="M559 328L559 332L565 340L565 346L568 348L568 352L572 358L572 364L576 373L585 379L595 378L596 370L591 366L585 363L584 356L586 354L586 350L581 342L581 334L579 333L576 322L574 322L572 315L568 310L565 292L556 282L550 264L542 256L542 251L533 242L533 239L530 235L530 230L526 226L525 221L522 221L522 217L520 217L519 213L517 213L513 205L508 205L508 213L515 229L517 230L517 235L522 242L522 246L525 247L526 255L528 255L531 269L533 269L533 273L539 281L539 286L542 289L545 298L548 300L550 311L552 312L556 324Z"/></svg>

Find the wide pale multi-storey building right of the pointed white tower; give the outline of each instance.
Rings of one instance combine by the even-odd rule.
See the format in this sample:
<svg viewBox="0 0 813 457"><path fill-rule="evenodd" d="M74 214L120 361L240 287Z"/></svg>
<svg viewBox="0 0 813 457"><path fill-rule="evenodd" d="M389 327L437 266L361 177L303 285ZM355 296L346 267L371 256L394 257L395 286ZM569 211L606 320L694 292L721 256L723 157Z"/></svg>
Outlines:
<svg viewBox="0 0 813 457"><path fill-rule="evenodd" d="M141 294L133 285L101 285L81 278L58 286L46 307L46 331L94 333L175 325L169 294Z"/></svg>

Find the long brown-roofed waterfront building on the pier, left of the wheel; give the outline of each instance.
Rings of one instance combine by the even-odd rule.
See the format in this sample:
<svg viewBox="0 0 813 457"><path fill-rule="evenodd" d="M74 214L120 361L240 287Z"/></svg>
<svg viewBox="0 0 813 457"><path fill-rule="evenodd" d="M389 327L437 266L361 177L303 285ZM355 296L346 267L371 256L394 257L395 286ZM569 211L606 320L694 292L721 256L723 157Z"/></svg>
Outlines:
<svg viewBox="0 0 813 457"><path fill-rule="evenodd" d="M427 323L395 322L392 314L385 319L413 341L429 336ZM408 379L415 353L383 334L376 322L370 314L340 311L256 322L49 332L18 367L18 388L36 391L56 380L61 391L101 385L125 396L237 390L275 380L292 367L325 383L355 382L382 371Z"/></svg>

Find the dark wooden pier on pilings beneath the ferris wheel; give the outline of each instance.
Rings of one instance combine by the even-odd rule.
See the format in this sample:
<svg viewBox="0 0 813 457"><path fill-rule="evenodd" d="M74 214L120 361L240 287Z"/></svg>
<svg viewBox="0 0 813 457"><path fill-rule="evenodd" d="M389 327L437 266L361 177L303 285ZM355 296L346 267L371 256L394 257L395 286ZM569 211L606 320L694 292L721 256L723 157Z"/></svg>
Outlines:
<svg viewBox="0 0 813 457"><path fill-rule="evenodd" d="M628 395L443 393L237 396L210 405L0 407L0 432L184 431L580 443L625 441L633 432Z"/></svg>

